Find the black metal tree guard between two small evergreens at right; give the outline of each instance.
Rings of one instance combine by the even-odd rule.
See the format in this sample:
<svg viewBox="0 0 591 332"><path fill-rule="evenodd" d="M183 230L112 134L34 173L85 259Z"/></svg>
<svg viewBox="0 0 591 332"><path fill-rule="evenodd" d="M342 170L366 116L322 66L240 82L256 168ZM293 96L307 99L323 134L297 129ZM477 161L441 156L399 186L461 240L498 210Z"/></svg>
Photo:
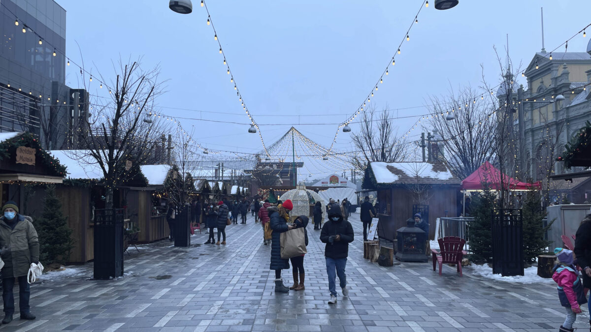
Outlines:
<svg viewBox="0 0 591 332"><path fill-rule="evenodd" d="M521 210L492 211L492 273L502 276L524 274Z"/></svg>

